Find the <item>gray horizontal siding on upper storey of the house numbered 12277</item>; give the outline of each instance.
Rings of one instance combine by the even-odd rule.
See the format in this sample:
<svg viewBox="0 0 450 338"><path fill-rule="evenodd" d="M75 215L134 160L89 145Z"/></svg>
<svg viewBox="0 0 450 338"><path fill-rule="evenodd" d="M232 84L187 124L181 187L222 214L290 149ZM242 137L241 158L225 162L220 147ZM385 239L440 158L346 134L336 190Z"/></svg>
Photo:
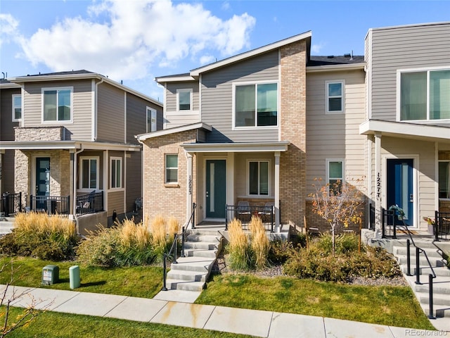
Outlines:
<svg viewBox="0 0 450 338"><path fill-rule="evenodd" d="M396 120L397 69L450 68L450 24L372 30L372 118Z"/></svg>

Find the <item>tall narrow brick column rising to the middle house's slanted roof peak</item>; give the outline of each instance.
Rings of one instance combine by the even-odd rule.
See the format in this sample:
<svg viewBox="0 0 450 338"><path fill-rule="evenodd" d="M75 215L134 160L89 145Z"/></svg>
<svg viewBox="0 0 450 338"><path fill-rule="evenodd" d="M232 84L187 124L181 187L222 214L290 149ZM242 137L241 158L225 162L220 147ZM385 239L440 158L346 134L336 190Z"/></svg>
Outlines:
<svg viewBox="0 0 450 338"><path fill-rule="evenodd" d="M281 47L281 223L303 224L306 200L306 42Z"/></svg>

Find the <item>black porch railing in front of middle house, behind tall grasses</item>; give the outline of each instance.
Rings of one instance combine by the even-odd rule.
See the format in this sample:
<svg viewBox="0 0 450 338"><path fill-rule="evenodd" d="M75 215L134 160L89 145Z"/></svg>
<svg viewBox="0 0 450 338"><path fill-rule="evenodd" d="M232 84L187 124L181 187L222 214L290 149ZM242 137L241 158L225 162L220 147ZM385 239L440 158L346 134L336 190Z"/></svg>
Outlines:
<svg viewBox="0 0 450 338"><path fill-rule="evenodd" d="M225 206L225 230L228 223L234 218L240 220L243 230L249 230L248 225L252 216L259 216L266 231L274 232L275 207L274 206Z"/></svg>

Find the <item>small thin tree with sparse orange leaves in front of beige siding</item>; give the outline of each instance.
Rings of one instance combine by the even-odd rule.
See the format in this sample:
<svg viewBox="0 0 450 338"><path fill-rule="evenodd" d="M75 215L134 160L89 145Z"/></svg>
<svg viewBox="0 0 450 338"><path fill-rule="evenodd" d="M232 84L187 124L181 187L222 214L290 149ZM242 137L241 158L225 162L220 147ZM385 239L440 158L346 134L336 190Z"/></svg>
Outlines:
<svg viewBox="0 0 450 338"><path fill-rule="evenodd" d="M364 177L334 184L322 184L322 179L315 178L315 192L309 194L312 198L312 211L330 224L333 239L333 256L335 254L335 232L339 225L348 227L350 223L361 224L361 206L364 196L359 189Z"/></svg>

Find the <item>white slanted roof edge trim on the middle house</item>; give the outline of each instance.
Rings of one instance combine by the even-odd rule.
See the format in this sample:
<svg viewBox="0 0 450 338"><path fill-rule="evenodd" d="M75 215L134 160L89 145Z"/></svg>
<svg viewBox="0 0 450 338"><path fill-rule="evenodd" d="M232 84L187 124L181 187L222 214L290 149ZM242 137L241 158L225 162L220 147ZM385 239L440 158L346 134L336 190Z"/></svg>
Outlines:
<svg viewBox="0 0 450 338"><path fill-rule="evenodd" d="M295 35L293 37L288 37L287 39L280 40L278 42L274 42L273 44L267 44L266 46L259 47L257 49L252 49L251 51L246 51L242 54L238 54L236 56L231 56L222 61L217 61L214 63L210 63L209 65L204 65L200 68L195 68L191 70L191 76L196 77L199 76L200 73L207 72L209 70L213 70L219 67L223 67L224 65L229 65L230 63L235 63L241 61L245 58L251 58L252 56L256 56L258 54L265 53L267 51L271 51L273 49L280 48L281 46L285 46L286 44L292 44L293 42L300 41L302 39L307 39L311 37L312 33L309 30L308 32L301 33L299 35Z"/></svg>

